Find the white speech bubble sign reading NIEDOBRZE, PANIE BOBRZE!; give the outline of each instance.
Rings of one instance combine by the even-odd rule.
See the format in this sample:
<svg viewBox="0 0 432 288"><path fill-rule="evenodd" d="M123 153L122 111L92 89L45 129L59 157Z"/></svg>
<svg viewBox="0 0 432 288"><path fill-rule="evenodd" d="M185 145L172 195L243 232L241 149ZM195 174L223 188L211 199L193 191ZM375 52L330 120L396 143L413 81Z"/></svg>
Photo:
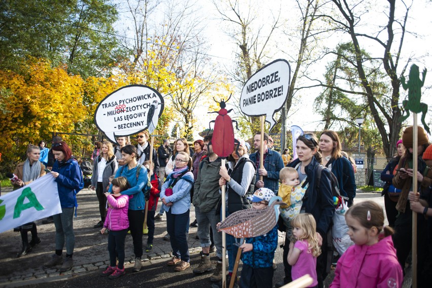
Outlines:
<svg viewBox="0 0 432 288"><path fill-rule="evenodd" d="M273 115L285 104L291 82L291 67L285 59L277 59L252 75L243 86L240 109L248 116L266 115L272 130Z"/></svg>

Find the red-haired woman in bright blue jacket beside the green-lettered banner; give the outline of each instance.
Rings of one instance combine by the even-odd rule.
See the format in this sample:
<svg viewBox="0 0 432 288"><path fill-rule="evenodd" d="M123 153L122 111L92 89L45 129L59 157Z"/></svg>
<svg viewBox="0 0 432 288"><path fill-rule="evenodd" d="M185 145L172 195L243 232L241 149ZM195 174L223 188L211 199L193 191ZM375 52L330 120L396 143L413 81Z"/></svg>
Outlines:
<svg viewBox="0 0 432 288"><path fill-rule="evenodd" d="M50 268L63 262L60 272L65 272L74 266L72 255L75 247L74 209L76 194L83 188L83 173L77 160L72 157L72 151L66 142L53 144L52 151L56 159L51 174L57 182L58 197L61 213L53 215L55 225L55 254L44 264ZM66 239L66 259L63 261L62 252Z"/></svg>

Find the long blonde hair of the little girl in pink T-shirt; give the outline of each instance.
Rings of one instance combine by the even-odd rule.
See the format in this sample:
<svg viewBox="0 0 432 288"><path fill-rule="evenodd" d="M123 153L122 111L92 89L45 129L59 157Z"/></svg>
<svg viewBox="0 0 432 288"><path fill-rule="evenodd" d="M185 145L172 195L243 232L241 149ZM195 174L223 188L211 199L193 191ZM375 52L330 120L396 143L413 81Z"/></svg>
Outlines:
<svg viewBox="0 0 432 288"><path fill-rule="evenodd" d="M294 228L300 228L303 230L303 235L299 236L298 240L307 240L309 247L308 253L311 253L313 257L318 257L321 254L321 248L318 245L318 239L316 238L316 222L310 213L300 213L291 220L291 225Z"/></svg>

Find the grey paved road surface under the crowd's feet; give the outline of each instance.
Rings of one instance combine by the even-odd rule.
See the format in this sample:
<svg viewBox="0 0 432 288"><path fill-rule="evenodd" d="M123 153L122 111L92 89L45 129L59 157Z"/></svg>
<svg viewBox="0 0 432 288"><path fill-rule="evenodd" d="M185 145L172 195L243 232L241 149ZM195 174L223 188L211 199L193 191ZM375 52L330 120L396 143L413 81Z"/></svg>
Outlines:
<svg viewBox="0 0 432 288"><path fill-rule="evenodd" d="M81 194L81 195L80 195ZM126 265L126 275L116 280L109 280L106 278L99 277L98 273L101 271L101 267L105 266L103 261L109 259L106 251L106 237L97 234L95 229L92 228L93 224L97 222L97 199L91 191L83 190L79 194L79 217L74 221L77 243L76 252L74 254L76 267L73 271L69 271L66 274L59 274L58 272L51 271L51 274L43 271L40 266L43 261L49 257L53 251L54 241L54 227L53 225L42 225L39 226L42 232L42 238L44 243L50 243L37 247L24 258L16 259L14 254L17 251L17 245L19 245L19 235L13 232L5 232L0 234L0 251L2 256L0 257L0 281L10 280L15 277L13 281L0 282L0 286L31 286L31 287L127 287L127 286L145 286L145 287L210 287L211 282L209 276L211 273L203 275L194 275L192 269L187 269L182 272L174 272L172 267L167 267L166 253L169 253L170 246L167 241L163 241L161 237L165 233L165 221L156 222L156 233L155 236L155 251L156 253L149 253L143 255L143 258L147 257L148 261L143 263L143 269L140 272L133 273L133 264ZM384 206L383 198L380 194L374 193L362 193L357 194L356 202L365 200L374 200L380 205ZM81 211L80 211L81 210ZM194 217L193 207L191 209L191 219ZM191 228L189 245L191 251L191 267L194 268L199 264L199 243L194 239L196 228ZM130 237L127 237L130 238ZM13 239L11 241L11 239ZM279 242L282 243L283 235L279 235ZM13 245L11 245L11 242ZM146 238L143 240L146 243ZM126 257L132 260L132 245L131 240L128 239L126 242ZM128 248L129 246L129 248ZM154 252L154 251L152 251ZM6 254L6 257L4 257ZM150 256L152 254L152 256ZM212 260L215 261L215 255L212 254ZM101 262L102 261L102 262ZM280 281L283 278L283 264L282 264L282 249L278 248L275 254L275 261L277 263L277 269L274 274L273 282ZM100 265L96 265L95 262L99 262ZM93 265L86 268L86 263L93 263ZM7 264L7 265L4 265ZM30 271L30 272L29 272ZM41 272L42 271L42 272ZM77 272L79 271L79 272ZM44 274L38 274L44 273ZM326 280L326 286L328 286L334 277L333 271L330 273ZM411 279L407 277L406 285L409 287Z"/></svg>

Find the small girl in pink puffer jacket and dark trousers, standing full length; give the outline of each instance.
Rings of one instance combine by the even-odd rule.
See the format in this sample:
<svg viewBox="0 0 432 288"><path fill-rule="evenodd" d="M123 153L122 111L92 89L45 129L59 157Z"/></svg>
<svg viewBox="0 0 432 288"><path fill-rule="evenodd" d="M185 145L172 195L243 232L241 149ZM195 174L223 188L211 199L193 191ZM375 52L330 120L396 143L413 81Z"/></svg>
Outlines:
<svg viewBox="0 0 432 288"><path fill-rule="evenodd" d="M111 184L113 185L113 194L105 193L109 208L103 228L100 230L101 234L106 229L110 231L108 233L110 266L106 267L100 276L115 279L125 274L125 239L129 228L129 219L127 217L129 196L122 195L121 192L129 189L130 185L125 177L115 178ZM116 256L119 258L118 266L116 266Z"/></svg>

